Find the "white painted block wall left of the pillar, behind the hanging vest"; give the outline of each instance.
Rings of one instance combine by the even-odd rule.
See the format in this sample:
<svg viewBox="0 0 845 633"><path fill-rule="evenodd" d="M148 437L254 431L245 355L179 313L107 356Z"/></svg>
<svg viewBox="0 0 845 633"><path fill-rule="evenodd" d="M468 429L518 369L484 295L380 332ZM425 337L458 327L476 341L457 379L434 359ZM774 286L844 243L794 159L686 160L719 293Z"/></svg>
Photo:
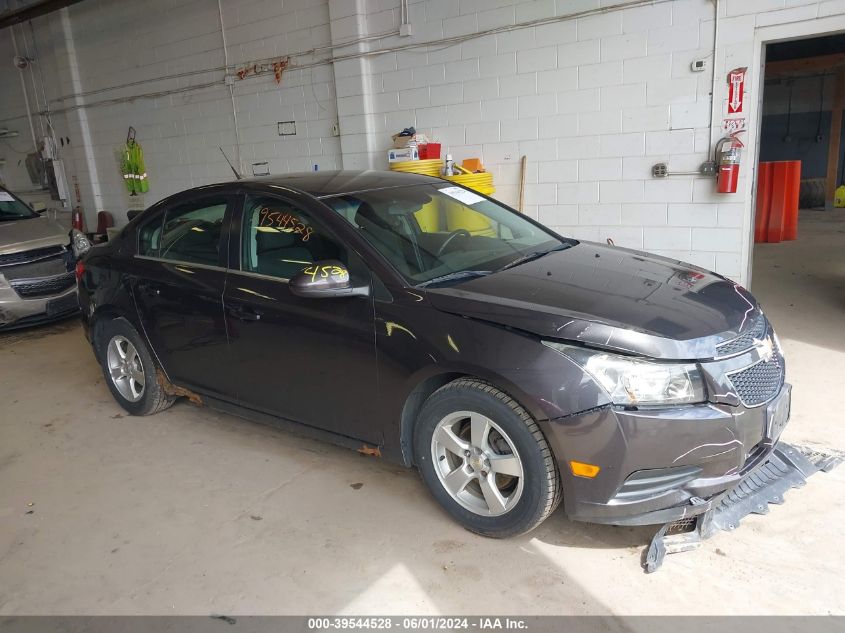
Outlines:
<svg viewBox="0 0 845 633"><path fill-rule="evenodd" d="M222 9L233 74L234 69L256 60L330 44L326 2L226 0ZM285 71L280 85L272 74L237 81L233 86L236 134L233 99L223 82L217 0L87 0L33 24L39 56L59 63L59 71L47 78L47 94L55 112L54 127L71 139L68 154L74 160L69 178L72 183L76 176L79 182L89 226L99 210L111 211L122 224L127 209L144 208L189 187L231 179L218 146L235 164L239 148L241 168L247 174L252 163L260 161L267 161L272 173L309 170L314 165L323 170L340 166L340 143L332 135L337 121L332 68L329 64L310 66L315 55L297 56L296 62L303 68ZM5 50L8 29L0 33ZM26 33L16 28L18 39ZM60 43L51 51L45 49L50 42ZM15 101L7 108L5 94L14 95L9 101L22 100L17 70L10 66L0 68L0 76L11 88L0 97L4 99L0 101L0 126L14 126L22 137L26 131L26 139L16 139L16 144L31 146L28 125L20 118L22 105ZM76 69L75 76L71 67ZM209 70L193 74L205 69ZM169 79L161 79L165 77ZM107 90L132 83L136 85ZM213 85L179 92L210 83ZM63 98L80 93L84 94L80 99ZM153 96L108 103L151 93ZM89 107L75 109L80 103ZM279 121L295 121L296 135L279 136ZM118 158L130 125L144 148L151 183L148 194L136 197L130 197L125 189ZM6 152L7 146L0 144L0 157L8 160ZM11 187L31 187L25 171L7 170L3 175Z"/></svg>

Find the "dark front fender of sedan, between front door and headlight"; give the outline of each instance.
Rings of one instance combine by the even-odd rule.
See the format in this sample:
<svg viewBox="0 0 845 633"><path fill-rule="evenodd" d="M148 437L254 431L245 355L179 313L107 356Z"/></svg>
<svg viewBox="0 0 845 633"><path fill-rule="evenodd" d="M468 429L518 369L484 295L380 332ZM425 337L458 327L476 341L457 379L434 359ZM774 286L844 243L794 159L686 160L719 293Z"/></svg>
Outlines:
<svg viewBox="0 0 845 633"><path fill-rule="evenodd" d="M533 334L441 312L423 301L376 304L378 424L385 453L406 465L414 461L411 437L423 403L462 376L485 380L504 391L538 422L607 401L593 381L583 380L580 367L538 346ZM426 314L420 318L423 311ZM425 326L411 329L412 320L406 317L410 312L414 323ZM555 394L554 400L549 393Z"/></svg>

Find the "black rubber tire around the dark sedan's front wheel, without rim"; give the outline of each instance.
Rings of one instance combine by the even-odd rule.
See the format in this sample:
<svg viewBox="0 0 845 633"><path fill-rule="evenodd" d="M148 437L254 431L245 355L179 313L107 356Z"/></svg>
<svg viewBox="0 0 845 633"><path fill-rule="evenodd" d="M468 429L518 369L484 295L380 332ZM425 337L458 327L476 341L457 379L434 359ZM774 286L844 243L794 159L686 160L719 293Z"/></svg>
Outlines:
<svg viewBox="0 0 845 633"><path fill-rule="evenodd" d="M512 508L498 516L484 516L456 501L433 463L432 437L438 423L461 411L480 413L501 427L521 458L521 496ZM461 378L429 397L414 427L414 456L423 481L440 505L463 527L484 536L506 538L528 532L554 512L561 501L557 464L537 423L513 398L482 380Z"/></svg>

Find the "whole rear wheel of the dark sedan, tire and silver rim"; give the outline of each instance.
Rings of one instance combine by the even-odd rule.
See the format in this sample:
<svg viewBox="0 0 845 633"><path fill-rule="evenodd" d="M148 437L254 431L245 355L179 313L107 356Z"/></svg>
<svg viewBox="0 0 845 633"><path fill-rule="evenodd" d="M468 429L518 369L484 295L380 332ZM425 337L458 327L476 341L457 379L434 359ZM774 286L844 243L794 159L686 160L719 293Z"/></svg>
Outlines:
<svg viewBox="0 0 845 633"><path fill-rule="evenodd" d="M158 381L146 343L126 319L113 319L99 328L97 349L106 384L127 413L153 415L173 404L174 398Z"/></svg>

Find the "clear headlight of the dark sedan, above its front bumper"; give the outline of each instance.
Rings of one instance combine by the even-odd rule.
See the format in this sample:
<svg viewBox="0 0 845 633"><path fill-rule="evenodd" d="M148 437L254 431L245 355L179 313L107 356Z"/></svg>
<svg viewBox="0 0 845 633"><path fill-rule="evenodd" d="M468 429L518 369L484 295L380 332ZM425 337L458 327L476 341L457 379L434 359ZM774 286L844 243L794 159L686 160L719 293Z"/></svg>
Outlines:
<svg viewBox="0 0 845 633"><path fill-rule="evenodd" d="M704 402L704 380L695 363L658 362L543 341L580 365L613 404L666 405Z"/></svg>

